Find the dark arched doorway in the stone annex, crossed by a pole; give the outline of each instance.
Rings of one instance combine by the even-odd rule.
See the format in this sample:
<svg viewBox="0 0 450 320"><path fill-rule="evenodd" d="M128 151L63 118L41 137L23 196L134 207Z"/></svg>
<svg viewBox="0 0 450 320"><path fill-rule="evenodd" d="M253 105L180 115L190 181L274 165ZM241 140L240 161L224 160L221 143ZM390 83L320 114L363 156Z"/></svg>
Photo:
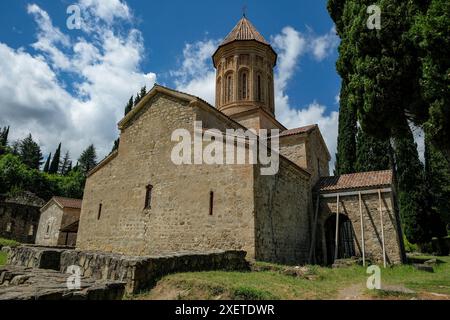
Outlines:
<svg viewBox="0 0 450 320"><path fill-rule="evenodd" d="M338 259L347 259L356 255L354 230L350 219L343 214L339 215ZM325 222L325 237L327 246L327 264L334 262L336 250L336 215L333 214Z"/></svg>

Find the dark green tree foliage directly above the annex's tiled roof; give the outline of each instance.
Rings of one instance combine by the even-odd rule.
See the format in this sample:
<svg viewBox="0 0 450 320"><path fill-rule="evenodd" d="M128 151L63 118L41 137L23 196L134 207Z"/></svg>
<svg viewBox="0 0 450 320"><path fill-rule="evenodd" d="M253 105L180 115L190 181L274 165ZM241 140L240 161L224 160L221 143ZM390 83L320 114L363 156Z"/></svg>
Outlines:
<svg viewBox="0 0 450 320"><path fill-rule="evenodd" d="M389 140L372 137L358 128L356 142L356 172L391 169L391 144Z"/></svg>

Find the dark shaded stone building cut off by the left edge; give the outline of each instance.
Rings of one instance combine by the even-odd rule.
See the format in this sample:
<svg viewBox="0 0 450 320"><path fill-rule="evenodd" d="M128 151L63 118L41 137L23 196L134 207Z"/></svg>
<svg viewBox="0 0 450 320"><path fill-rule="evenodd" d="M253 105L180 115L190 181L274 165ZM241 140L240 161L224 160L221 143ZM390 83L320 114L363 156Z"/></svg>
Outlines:
<svg viewBox="0 0 450 320"><path fill-rule="evenodd" d="M34 243L44 200L31 192L0 197L0 237Z"/></svg>

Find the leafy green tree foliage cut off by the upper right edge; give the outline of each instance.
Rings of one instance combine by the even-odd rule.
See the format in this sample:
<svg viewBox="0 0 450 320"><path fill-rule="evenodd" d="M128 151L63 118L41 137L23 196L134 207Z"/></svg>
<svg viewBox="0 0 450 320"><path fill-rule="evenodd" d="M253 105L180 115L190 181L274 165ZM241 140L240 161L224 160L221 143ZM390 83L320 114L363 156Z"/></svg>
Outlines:
<svg viewBox="0 0 450 320"><path fill-rule="evenodd" d="M450 1L429 0L415 19L410 36L419 50L420 88L426 104L412 110L424 124L429 143L450 163Z"/></svg>

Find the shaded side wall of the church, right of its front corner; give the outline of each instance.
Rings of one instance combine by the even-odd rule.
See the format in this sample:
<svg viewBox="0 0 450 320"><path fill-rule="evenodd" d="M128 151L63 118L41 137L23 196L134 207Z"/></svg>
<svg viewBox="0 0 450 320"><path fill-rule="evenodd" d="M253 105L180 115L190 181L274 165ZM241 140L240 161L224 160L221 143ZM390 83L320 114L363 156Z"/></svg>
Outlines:
<svg viewBox="0 0 450 320"><path fill-rule="evenodd" d="M311 241L309 175L280 160L275 176L255 172L256 258L304 264Z"/></svg>

